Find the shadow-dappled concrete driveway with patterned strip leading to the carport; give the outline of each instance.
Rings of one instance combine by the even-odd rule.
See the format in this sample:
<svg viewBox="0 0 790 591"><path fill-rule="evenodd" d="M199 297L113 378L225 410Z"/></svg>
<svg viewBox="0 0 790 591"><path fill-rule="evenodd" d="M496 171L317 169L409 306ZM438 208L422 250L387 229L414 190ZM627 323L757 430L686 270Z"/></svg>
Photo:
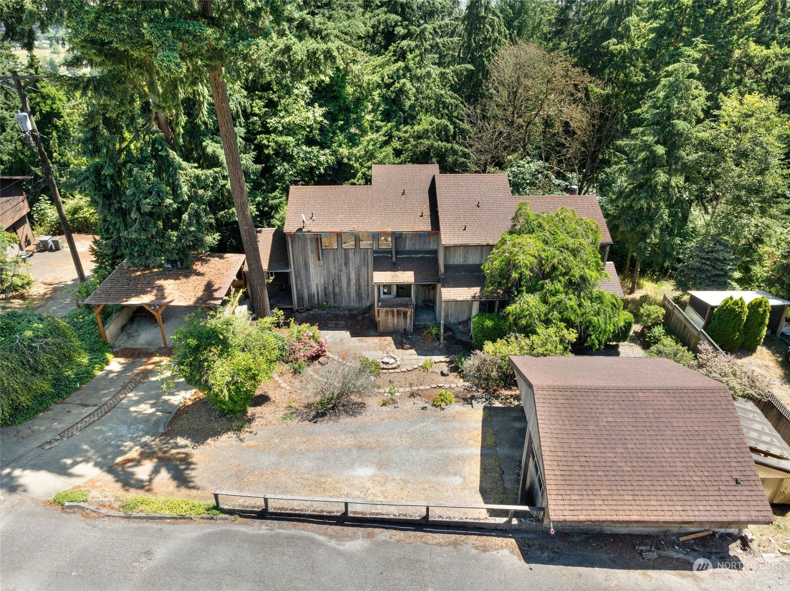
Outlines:
<svg viewBox="0 0 790 591"><path fill-rule="evenodd" d="M158 361L115 358L91 382L35 419L2 427L3 495L50 499L165 431L194 390L179 382L163 397Z"/></svg>

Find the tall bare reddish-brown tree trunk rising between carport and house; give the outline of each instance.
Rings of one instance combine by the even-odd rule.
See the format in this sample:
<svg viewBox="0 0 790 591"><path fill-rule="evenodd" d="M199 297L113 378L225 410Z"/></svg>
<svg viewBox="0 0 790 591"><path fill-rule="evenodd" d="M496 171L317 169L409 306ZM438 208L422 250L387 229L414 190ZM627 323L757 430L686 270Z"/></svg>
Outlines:
<svg viewBox="0 0 790 591"><path fill-rule="evenodd" d="M213 3L211 0L198 2L201 13L205 17L213 17ZM228 88L222 79L222 64L213 62L208 65L209 84L214 98L214 111L216 123L220 128L222 150L225 153L225 166L228 167L228 179L231 183L231 195L236 210L236 220L239 221L239 231L242 235L242 245L246 256L247 270L250 281L247 290L252 300L252 309L258 318L266 318L271 314L269 310L269 292L266 291L266 273L261 262L261 251L258 249L258 235L250 210L250 198L246 190L246 180L242 169L242 159L239 156L239 140L233 125L231 103L228 100Z"/></svg>

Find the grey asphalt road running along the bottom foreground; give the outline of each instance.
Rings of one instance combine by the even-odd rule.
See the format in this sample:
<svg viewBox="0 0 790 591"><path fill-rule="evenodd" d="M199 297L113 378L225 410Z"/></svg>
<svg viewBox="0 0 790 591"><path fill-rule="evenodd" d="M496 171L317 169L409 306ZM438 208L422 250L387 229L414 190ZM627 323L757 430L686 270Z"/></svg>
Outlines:
<svg viewBox="0 0 790 591"><path fill-rule="evenodd" d="M534 535L534 534L532 534ZM604 555L519 540L284 521L125 521L0 504L0 585L35 589L786 589L788 563L751 573L623 570ZM585 566L581 566L585 565Z"/></svg>

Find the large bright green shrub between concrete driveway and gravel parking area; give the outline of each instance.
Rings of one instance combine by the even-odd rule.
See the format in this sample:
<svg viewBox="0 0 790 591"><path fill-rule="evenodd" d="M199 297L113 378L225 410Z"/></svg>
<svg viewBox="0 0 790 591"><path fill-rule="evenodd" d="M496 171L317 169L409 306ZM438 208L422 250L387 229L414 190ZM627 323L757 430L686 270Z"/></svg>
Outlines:
<svg viewBox="0 0 790 591"><path fill-rule="evenodd" d="M283 336L265 326L226 314L224 306L190 314L173 335L172 375L205 393L225 416L243 415L288 348Z"/></svg>

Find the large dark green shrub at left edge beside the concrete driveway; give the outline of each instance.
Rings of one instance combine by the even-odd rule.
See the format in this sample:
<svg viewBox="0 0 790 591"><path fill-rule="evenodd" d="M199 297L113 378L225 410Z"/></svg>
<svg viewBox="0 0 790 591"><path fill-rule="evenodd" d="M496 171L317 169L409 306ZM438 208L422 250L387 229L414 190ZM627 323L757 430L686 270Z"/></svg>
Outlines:
<svg viewBox="0 0 790 591"><path fill-rule="evenodd" d="M103 320L117 307L106 307ZM88 308L62 318L7 311L0 318L0 423L19 424L69 396L112 359Z"/></svg>

